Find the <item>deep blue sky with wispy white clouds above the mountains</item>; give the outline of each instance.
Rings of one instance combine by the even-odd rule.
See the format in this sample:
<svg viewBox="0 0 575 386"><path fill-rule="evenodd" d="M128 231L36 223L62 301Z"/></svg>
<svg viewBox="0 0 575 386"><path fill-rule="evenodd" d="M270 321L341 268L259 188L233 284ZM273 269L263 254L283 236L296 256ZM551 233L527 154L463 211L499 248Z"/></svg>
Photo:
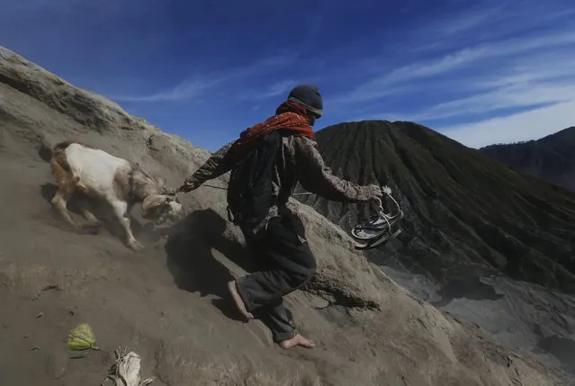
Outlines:
<svg viewBox="0 0 575 386"><path fill-rule="evenodd" d="M361 5L359 5L361 4ZM216 150L298 83L477 148L575 125L572 0L0 0L0 44Z"/></svg>

